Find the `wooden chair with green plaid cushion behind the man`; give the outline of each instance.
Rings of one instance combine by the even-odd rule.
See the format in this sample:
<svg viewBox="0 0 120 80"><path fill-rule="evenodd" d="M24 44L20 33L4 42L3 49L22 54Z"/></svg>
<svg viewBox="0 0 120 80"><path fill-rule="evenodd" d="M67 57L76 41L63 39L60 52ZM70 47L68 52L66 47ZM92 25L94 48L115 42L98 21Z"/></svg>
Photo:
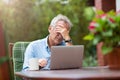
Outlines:
<svg viewBox="0 0 120 80"><path fill-rule="evenodd" d="M24 62L24 52L30 42L9 43L9 55L12 58L10 64L14 72L21 71ZM14 76L15 80L22 80Z"/></svg>

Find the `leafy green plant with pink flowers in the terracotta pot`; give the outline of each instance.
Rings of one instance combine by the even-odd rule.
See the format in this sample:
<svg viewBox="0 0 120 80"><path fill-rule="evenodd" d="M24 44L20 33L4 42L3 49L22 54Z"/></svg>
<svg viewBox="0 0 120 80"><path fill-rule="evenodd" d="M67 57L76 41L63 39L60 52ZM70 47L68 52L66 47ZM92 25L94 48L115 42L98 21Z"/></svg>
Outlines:
<svg viewBox="0 0 120 80"><path fill-rule="evenodd" d="M88 28L90 32L84 40L90 40L93 45L103 42L102 53L107 54L120 42L120 12L97 11Z"/></svg>

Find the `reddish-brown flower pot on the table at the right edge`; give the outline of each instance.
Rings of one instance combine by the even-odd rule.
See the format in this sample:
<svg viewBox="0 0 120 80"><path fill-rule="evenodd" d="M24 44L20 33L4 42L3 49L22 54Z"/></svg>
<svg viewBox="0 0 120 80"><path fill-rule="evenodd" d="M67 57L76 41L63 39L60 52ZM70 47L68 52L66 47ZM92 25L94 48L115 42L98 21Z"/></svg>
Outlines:
<svg viewBox="0 0 120 80"><path fill-rule="evenodd" d="M114 48L112 52L105 56L109 69L120 70L120 47Z"/></svg>

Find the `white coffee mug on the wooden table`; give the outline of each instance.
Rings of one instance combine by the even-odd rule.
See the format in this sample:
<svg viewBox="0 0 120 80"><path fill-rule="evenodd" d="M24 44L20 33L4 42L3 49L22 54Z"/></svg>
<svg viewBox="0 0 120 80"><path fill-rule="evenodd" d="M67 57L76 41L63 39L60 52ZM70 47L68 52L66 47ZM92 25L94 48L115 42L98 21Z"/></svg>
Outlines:
<svg viewBox="0 0 120 80"><path fill-rule="evenodd" d="M29 59L29 70L39 70L38 58Z"/></svg>

